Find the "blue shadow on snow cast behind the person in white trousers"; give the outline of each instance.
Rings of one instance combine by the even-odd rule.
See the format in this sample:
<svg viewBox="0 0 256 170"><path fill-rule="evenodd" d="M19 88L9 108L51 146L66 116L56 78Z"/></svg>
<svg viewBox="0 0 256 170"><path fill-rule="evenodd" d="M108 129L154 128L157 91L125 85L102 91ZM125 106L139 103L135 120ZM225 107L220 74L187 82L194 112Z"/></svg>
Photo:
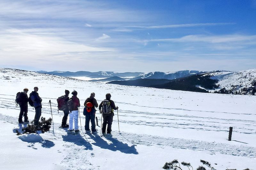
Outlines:
<svg viewBox="0 0 256 170"><path fill-rule="evenodd" d="M66 130L68 131L68 129ZM92 144L90 144L88 141L86 141L81 135L80 133L77 133L76 135L74 135L73 133L67 134L67 135L62 135L63 141L66 142L72 142L76 145L79 146L84 146L85 150L92 150Z"/></svg>

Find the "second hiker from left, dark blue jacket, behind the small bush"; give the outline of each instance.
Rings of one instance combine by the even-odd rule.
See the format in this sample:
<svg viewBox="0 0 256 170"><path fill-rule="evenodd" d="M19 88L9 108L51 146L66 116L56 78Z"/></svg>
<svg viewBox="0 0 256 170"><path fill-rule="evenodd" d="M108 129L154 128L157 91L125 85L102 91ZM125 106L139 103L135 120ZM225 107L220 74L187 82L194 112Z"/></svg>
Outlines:
<svg viewBox="0 0 256 170"><path fill-rule="evenodd" d="M33 105L36 110L36 115L34 119L34 125L38 125L39 119L41 117L42 111L42 99L38 95L38 87L34 87L34 91L29 94L29 98L33 101Z"/></svg>

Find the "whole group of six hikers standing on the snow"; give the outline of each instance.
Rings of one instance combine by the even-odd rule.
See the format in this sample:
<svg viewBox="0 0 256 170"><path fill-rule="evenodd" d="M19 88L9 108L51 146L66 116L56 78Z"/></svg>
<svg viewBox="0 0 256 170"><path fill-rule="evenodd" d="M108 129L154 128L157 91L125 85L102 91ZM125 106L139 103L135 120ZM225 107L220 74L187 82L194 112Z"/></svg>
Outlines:
<svg viewBox="0 0 256 170"><path fill-rule="evenodd" d="M34 87L34 91L29 94L28 97L28 88L24 88L23 92L18 92L16 95L16 102L20 105L20 115L19 115L19 123L29 123L28 120L28 103L30 106L35 107L36 114L34 118L34 125L38 125L39 119L41 117L41 109L42 109L42 99L39 97L38 87ZM65 90L65 95L60 96L57 99L58 102L58 110L62 110L64 116L61 122L61 128L68 128L68 133L79 132L78 127L78 116L79 116L79 107L80 100L77 98L77 92L74 90L71 92L72 97L69 98L69 91ZM106 94L106 99L103 100L100 105L98 105L97 100L94 98L95 93L92 92L90 97L88 97L84 102L84 112L85 115L85 133L90 133L89 123L91 122L91 130L92 133L97 133L96 125L95 125L95 113L96 108L99 107L100 114L103 117L102 123L102 134L111 134L111 126L113 122L114 110L117 110L118 107L115 106L113 100L110 100L111 94ZM67 124L69 115L69 124ZM22 117L24 116L24 122L22 121ZM108 125L108 127L107 127ZM107 133L106 133L107 127Z"/></svg>

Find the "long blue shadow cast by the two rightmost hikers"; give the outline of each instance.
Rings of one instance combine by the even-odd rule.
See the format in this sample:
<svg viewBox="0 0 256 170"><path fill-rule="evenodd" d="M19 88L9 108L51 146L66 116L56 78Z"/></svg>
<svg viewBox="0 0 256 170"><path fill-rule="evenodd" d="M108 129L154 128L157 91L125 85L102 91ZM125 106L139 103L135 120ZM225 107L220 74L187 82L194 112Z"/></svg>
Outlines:
<svg viewBox="0 0 256 170"><path fill-rule="evenodd" d="M123 142L120 142L119 140L113 137L105 137L108 140L105 141L98 134L96 134L95 136L93 136L92 134L88 135L95 141L95 143L92 144L95 146L99 146L100 148L109 149L111 151L120 151L128 154L139 154L135 148L135 145L128 146L128 144L124 144Z"/></svg>

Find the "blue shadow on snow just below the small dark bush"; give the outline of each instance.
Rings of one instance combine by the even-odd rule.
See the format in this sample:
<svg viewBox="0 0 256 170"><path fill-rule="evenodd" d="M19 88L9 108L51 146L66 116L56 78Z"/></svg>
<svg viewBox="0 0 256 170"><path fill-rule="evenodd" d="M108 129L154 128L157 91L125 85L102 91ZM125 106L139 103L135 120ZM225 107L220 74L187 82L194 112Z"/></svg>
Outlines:
<svg viewBox="0 0 256 170"><path fill-rule="evenodd" d="M32 147L33 149L37 149L35 147L36 143L41 144L44 148L51 148L55 145L52 141L44 140L40 135L34 133L20 135L19 138L23 142L28 142L28 147Z"/></svg>

